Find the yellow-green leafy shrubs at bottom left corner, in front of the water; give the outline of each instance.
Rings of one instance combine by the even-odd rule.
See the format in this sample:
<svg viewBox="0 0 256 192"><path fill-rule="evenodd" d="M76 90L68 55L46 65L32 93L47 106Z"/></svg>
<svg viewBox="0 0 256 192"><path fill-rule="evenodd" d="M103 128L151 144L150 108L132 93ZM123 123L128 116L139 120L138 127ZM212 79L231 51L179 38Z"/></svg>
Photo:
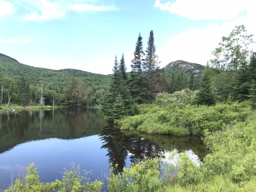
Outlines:
<svg viewBox="0 0 256 192"><path fill-rule="evenodd" d="M90 172L81 172L79 166L76 167L73 163L70 165L70 170L64 169L61 180L51 183L40 183L37 168L33 168L34 163L29 164L26 168L27 174L15 180L15 184L4 190L4 192L100 192L102 189L103 183L101 181L90 182L90 178L87 178Z"/></svg>

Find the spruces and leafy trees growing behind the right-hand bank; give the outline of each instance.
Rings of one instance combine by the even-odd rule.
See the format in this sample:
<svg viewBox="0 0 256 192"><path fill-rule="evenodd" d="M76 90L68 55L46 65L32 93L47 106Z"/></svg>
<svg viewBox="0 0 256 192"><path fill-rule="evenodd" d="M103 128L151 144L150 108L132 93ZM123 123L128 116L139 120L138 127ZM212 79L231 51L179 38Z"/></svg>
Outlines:
<svg viewBox="0 0 256 192"><path fill-rule="evenodd" d="M159 92L174 93L185 88L198 90L195 97L197 105L238 100L248 101L256 107L256 53L252 51L255 42L244 25L236 26L228 37L222 37L220 47L212 52L210 64L207 61L200 78L172 70L171 79L167 80L166 71L159 69L153 30L150 31L146 51L143 51L142 42L139 34L129 76L124 55L119 65L115 58L114 75L101 103L101 110L107 118L113 120L134 115L137 110L135 104L153 102Z"/></svg>

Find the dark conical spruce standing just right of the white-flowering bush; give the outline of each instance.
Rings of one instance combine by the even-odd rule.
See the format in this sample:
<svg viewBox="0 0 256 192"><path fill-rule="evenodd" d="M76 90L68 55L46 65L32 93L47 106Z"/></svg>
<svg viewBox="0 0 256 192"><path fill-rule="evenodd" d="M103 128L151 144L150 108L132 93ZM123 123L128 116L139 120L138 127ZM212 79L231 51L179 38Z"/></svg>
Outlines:
<svg viewBox="0 0 256 192"><path fill-rule="evenodd" d="M213 105L215 104L215 98L212 94L211 85L210 85L210 78L207 71L208 67L205 67L202 81L200 84L199 91L196 95L196 103L198 105Z"/></svg>

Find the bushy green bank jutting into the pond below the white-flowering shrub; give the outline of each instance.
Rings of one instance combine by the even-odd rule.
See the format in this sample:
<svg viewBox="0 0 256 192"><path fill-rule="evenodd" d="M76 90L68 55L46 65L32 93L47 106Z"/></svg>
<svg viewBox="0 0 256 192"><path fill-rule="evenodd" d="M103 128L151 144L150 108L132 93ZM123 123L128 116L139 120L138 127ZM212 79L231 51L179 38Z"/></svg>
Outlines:
<svg viewBox="0 0 256 192"><path fill-rule="evenodd" d="M204 132L215 132L227 125L244 122L252 113L249 105L237 102L184 107L142 104L138 108L139 115L124 117L115 123L123 130L137 130L149 134L204 135Z"/></svg>

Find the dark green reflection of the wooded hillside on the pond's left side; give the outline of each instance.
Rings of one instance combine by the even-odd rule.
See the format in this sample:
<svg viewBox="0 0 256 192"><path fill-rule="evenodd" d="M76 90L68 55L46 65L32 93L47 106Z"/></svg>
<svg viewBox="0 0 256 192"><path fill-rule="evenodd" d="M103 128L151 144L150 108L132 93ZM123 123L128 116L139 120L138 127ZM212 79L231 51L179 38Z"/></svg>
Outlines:
<svg viewBox="0 0 256 192"><path fill-rule="evenodd" d="M31 140L76 139L99 134L105 125L97 109L5 111L0 115L0 153Z"/></svg>

